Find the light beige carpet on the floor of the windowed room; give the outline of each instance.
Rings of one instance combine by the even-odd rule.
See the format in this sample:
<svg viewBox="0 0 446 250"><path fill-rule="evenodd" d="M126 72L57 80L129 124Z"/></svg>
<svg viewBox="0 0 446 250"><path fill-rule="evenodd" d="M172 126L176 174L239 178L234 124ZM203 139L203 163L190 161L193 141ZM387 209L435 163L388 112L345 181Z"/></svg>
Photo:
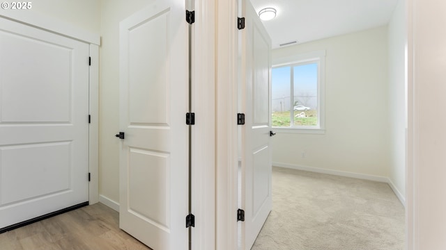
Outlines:
<svg viewBox="0 0 446 250"><path fill-rule="evenodd" d="M274 167L272 211L252 250L403 250L404 208L387 183Z"/></svg>

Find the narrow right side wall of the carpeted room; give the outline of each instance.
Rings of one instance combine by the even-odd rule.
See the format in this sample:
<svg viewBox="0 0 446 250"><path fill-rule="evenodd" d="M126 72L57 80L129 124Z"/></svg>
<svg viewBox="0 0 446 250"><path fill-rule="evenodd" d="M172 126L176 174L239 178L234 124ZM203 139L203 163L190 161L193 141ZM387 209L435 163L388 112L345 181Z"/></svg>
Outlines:
<svg viewBox="0 0 446 250"><path fill-rule="evenodd" d="M406 197L406 0L400 0L389 23L390 181Z"/></svg>

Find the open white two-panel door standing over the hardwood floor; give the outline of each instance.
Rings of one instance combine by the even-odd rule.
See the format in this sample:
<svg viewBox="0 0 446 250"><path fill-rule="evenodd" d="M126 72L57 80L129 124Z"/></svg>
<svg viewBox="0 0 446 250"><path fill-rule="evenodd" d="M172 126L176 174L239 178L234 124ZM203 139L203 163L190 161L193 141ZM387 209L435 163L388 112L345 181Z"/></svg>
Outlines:
<svg viewBox="0 0 446 250"><path fill-rule="evenodd" d="M183 0L121 22L119 224L155 250L188 246L187 25Z"/></svg>

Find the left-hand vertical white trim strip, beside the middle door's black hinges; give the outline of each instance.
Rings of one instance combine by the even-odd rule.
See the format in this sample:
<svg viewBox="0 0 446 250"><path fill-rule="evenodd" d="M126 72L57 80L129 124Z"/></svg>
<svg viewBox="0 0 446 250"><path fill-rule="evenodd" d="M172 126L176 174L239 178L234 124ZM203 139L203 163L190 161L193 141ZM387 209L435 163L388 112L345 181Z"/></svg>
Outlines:
<svg viewBox="0 0 446 250"><path fill-rule="evenodd" d="M192 24L192 249L215 249L216 237L216 1L190 0ZM189 24L188 24L189 25ZM227 248L231 249L231 248Z"/></svg>

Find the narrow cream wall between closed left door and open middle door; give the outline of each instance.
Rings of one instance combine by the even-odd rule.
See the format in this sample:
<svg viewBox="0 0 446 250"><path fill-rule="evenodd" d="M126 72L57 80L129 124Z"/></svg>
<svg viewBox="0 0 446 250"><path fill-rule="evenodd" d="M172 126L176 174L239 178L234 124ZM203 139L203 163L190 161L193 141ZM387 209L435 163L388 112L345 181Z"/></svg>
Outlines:
<svg viewBox="0 0 446 250"><path fill-rule="evenodd" d="M105 203L119 202L119 22L152 2L101 1L99 193Z"/></svg>

